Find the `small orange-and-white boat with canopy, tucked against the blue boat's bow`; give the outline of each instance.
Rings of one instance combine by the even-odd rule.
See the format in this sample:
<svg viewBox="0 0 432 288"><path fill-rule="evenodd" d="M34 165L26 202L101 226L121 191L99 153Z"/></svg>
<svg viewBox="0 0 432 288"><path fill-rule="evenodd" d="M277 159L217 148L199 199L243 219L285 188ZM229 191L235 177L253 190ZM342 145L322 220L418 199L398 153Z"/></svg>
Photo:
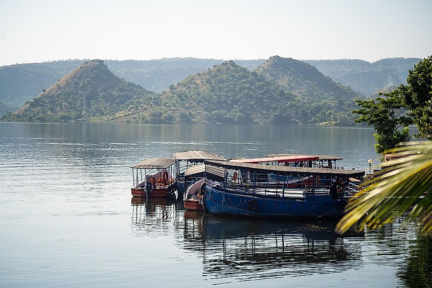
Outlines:
<svg viewBox="0 0 432 288"><path fill-rule="evenodd" d="M203 211L202 207L202 185L205 183L204 173L209 180L223 180L223 169L219 167L207 167L206 165L193 165L186 169L185 183L189 183L189 187L185 193L183 203L187 210Z"/></svg>

